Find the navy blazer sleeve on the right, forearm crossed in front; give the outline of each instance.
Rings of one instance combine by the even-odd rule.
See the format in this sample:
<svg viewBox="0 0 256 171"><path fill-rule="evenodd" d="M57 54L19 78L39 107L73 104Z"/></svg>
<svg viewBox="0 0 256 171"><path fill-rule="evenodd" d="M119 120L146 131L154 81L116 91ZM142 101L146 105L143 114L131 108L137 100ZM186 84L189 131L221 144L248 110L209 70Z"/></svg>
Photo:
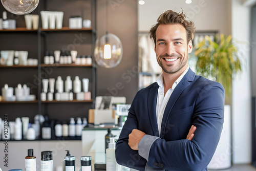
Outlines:
<svg viewBox="0 0 256 171"><path fill-rule="evenodd" d="M166 170L204 170L220 139L224 121L224 96L224 89L218 82L210 82L199 90L197 98L193 99L193 124L197 126L194 138L191 141L183 139L168 142L157 139L151 146L148 166Z"/></svg>

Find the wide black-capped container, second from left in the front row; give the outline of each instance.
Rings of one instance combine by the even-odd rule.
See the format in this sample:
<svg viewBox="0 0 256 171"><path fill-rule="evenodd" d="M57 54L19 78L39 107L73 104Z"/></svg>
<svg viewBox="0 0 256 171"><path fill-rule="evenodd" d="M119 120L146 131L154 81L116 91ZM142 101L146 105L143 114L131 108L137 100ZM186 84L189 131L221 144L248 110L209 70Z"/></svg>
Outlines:
<svg viewBox="0 0 256 171"><path fill-rule="evenodd" d="M53 171L52 151L41 152L41 171Z"/></svg>

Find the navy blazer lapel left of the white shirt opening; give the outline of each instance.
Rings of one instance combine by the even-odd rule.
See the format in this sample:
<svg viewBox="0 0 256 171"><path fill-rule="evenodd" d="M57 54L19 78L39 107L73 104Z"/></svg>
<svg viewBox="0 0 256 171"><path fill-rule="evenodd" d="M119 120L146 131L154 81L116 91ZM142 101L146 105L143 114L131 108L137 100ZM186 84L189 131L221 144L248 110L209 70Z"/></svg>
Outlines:
<svg viewBox="0 0 256 171"><path fill-rule="evenodd" d="M155 83L155 86L150 89L147 97L147 108L148 115L150 117L151 127L153 130L154 136L159 136L158 126L157 126L157 114L156 114L156 105L157 105L157 94L158 94L158 84Z"/></svg>

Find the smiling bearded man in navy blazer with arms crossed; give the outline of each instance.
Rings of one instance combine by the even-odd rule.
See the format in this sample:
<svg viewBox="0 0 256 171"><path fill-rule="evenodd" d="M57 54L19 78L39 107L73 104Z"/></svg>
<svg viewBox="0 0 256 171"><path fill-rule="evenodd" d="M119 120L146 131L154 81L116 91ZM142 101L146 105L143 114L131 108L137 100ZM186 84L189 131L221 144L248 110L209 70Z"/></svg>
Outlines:
<svg viewBox="0 0 256 171"><path fill-rule="evenodd" d="M195 25L165 11L150 30L163 73L140 90L116 143L119 164L138 170L207 170L224 119L224 89L187 64Z"/></svg>

